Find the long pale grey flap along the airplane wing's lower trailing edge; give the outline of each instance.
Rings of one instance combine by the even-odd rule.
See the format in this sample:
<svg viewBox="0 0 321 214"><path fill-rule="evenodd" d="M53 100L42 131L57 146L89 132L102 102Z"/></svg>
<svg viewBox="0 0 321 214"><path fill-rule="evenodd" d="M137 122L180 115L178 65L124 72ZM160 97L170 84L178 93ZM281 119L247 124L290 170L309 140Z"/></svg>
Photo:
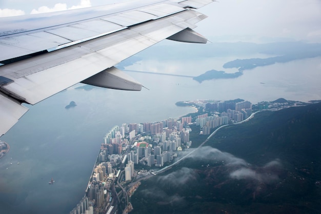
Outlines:
<svg viewBox="0 0 321 214"><path fill-rule="evenodd" d="M175 23L185 20L194 24L197 14L193 10L183 11L78 46L1 66L0 74L14 81L3 88L35 104L184 30Z"/></svg>

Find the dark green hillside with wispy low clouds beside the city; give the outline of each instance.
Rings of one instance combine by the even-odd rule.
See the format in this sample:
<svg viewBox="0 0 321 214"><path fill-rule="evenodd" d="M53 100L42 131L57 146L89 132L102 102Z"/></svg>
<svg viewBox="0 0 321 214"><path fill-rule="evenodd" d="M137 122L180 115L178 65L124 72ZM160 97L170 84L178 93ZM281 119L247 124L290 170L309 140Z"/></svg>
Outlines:
<svg viewBox="0 0 321 214"><path fill-rule="evenodd" d="M320 213L320 130L321 103L228 126L143 181L131 213Z"/></svg>

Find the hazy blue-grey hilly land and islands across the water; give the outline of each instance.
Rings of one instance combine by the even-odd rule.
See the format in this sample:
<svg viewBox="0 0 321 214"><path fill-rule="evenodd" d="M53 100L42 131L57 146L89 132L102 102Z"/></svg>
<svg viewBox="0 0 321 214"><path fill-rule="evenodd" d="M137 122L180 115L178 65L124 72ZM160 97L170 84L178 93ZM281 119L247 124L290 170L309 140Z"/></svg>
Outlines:
<svg viewBox="0 0 321 214"><path fill-rule="evenodd" d="M225 71L218 71L215 69L206 71L205 73L193 77L193 80L202 83L205 80L213 79L235 79L243 75L243 71L250 70L256 67L263 67L273 65L276 63L287 63L295 60L303 60L313 57L321 56L321 44L319 43L303 43L303 42L275 42L266 44L255 43L213 43L206 47L196 49L192 52L186 52L185 46L177 46L175 49L168 52L167 46L158 46L152 49L148 49L144 52L138 53L137 57L130 57L130 59L118 64L119 69L124 69L141 59L152 58L157 54L157 60L159 57L163 57L162 60L168 60L175 56L175 59L184 57L185 60L195 59L197 57L216 57L216 56L231 56L235 54L239 55L253 55L253 54L267 54L271 57L266 58L251 58L251 59L235 59L226 62L223 65L225 69L236 68L238 71L234 73L227 73ZM182 54L185 52L185 54ZM163 55L162 55L163 54ZM162 56L160 56L162 55ZM159 73L158 73L159 74ZM164 73L162 73L164 74ZM264 84L264 83L260 83Z"/></svg>

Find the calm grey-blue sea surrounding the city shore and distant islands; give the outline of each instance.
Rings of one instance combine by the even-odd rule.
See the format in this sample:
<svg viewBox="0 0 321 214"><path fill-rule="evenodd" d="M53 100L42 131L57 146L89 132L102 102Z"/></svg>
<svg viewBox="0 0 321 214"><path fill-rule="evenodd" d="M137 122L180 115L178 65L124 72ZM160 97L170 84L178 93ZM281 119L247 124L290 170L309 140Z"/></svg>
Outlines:
<svg viewBox="0 0 321 214"><path fill-rule="evenodd" d="M256 57L264 57L256 54ZM237 56L248 59L253 55ZM126 70L148 88L121 91L76 89L77 84L34 105L0 140L10 144L0 159L1 214L69 213L85 194L105 134L123 123L156 122L179 118L191 107L178 101L244 99L253 104L278 98L308 102L321 100L321 57L244 71L236 79L208 80L159 75L197 76L224 69L231 57L186 60L144 59ZM74 101L77 106L66 109ZM53 185L48 182L51 178Z"/></svg>

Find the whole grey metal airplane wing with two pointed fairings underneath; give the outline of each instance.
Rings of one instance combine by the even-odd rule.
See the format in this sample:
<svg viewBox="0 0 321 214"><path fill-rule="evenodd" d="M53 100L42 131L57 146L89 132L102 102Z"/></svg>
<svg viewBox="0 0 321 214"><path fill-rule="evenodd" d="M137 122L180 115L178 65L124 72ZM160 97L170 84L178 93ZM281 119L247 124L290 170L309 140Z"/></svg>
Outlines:
<svg viewBox="0 0 321 214"><path fill-rule="evenodd" d="M192 29L212 0L140 0L0 18L0 136L36 104L76 83L141 90L114 66L166 38L206 43Z"/></svg>

